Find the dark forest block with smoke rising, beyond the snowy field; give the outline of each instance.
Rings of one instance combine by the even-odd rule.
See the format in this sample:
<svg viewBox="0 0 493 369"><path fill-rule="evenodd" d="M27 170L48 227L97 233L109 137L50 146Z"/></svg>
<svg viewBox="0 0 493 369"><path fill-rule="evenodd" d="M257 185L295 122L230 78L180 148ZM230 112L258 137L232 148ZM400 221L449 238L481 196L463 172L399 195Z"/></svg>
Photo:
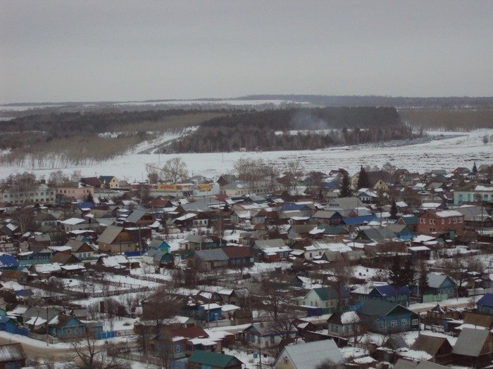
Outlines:
<svg viewBox="0 0 493 369"><path fill-rule="evenodd" d="M401 122L395 108L264 110L210 119L194 134L175 141L167 151L314 150L411 136L411 128Z"/></svg>

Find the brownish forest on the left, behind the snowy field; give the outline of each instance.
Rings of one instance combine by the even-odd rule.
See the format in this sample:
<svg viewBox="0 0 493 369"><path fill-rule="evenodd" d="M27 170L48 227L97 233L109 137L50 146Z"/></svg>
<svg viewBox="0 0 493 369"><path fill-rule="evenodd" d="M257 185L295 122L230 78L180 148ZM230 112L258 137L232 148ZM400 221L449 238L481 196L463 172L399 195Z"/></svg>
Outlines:
<svg viewBox="0 0 493 369"><path fill-rule="evenodd" d="M163 131L183 131L223 112L47 112L1 122L0 163L58 168L94 164L127 153Z"/></svg>

